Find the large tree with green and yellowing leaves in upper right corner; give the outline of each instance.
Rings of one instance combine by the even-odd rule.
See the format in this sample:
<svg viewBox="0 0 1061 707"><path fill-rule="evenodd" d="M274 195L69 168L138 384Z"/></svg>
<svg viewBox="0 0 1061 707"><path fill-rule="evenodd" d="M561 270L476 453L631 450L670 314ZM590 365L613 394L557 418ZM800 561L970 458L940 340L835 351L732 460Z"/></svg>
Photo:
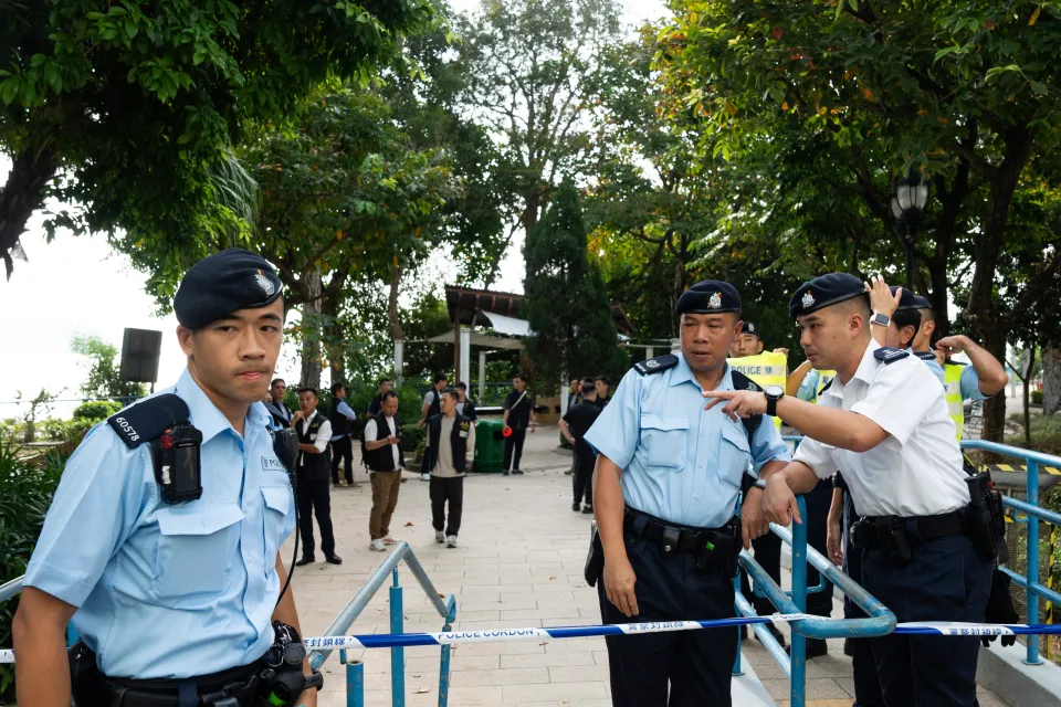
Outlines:
<svg viewBox="0 0 1061 707"><path fill-rule="evenodd" d="M977 0L674 4L658 61L675 116L700 127L702 154L736 160L786 143L830 146L839 193L857 193L858 215L885 234L894 180L923 173L937 209L924 231L934 242L917 256L918 288L945 312L949 289L967 278L964 320L1004 358L1019 313L1041 303L1061 272L1055 233L1012 221L1030 173L1052 179L1033 162L1058 148L1061 9ZM1012 247L1038 257L1005 278ZM985 437L1000 440L1004 422L1005 400L995 399Z"/></svg>

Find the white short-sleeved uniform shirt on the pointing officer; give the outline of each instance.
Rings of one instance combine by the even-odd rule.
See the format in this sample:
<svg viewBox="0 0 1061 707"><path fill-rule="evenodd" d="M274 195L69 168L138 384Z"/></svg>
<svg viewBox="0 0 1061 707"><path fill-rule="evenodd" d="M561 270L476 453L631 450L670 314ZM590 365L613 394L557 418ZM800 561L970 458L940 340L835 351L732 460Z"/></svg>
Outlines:
<svg viewBox="0 0 1061 707"><path fill-rule="evenodd" d="M837 469L861 516L936 516L969 504L962 451L936 377L914 356L883 363L870 341L854 377L836 378L819 405L857 412L889 436L869 452L849 452L807 437L794 462L820 478Z"/></svg>

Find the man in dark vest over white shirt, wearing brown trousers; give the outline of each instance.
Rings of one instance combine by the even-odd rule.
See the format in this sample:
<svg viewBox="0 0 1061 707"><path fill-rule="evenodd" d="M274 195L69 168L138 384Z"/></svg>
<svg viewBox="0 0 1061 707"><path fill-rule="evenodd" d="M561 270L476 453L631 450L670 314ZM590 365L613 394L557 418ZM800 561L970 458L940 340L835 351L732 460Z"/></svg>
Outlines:
<svg viewBox="0 0 1061 707"><path fill-rule="evenodd" d="M382 393L379 414L365 425L365 464L372 486L372 510L368 515L369 550L382 552L398 541L390 535L390 518L401 488L401 421L398 393Z"/></svg>

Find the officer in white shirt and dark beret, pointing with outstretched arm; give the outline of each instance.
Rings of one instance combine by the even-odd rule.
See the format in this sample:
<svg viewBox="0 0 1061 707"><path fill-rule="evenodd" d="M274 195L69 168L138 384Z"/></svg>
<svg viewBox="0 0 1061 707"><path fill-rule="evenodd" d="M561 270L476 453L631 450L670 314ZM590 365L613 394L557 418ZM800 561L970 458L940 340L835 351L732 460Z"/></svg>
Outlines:
<svg viewBox="0 0 1061 707"><path fill-rule="evenodd" d="M969 487L943 390L907 351L870 336L861 281L834 273L803 283L789 305L800 342L837 377L818 404L755 391L710 391L707 408L733 419L777 413L806 435L792 462L765 471L767 518L802 523L795 494L843 473L862 518L862 584L899 621L983 622L992 560L967 535ZM724 404L723 404L724 403ZM764 525L754 532L766 532ZM870 639L887 705L975 705L979 640L925 635Z"/></svg>

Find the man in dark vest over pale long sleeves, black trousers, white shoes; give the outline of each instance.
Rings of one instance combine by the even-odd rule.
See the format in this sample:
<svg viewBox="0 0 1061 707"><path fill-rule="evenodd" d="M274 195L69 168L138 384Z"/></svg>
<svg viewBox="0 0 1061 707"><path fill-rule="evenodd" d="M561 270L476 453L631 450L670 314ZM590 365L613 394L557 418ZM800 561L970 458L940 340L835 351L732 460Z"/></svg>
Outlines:
<svg viewBox="0 0 1061 707"><path fill-rule="evenodd" d="M460 400L452 388L442 393L442 413L428 422L428 450L431 455L431 520L434 541L456 547L464 505L464 474L475 453L475 425L456 412ZM424 454L427 455L427 451ZM445 504L450 504L447 525ZM444 532L443 532L444 530Z"/></svg>

